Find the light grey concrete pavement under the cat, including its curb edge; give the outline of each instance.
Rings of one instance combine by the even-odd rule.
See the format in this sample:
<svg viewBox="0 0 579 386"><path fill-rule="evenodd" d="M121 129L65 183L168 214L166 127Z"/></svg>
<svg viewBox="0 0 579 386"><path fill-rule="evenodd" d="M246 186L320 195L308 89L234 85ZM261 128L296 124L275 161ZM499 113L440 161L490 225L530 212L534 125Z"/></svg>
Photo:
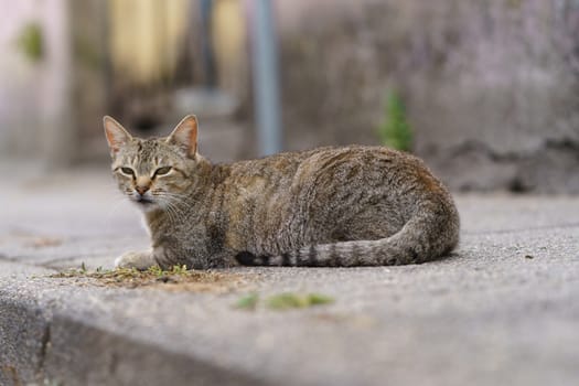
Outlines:
<svg viewBox="0 0 579 386"><path fill-rule="evenodd" d="M460 248L379 268L240 268L107 286L147 246L106 168L2 172L0 385L577 385L579 197L459 195ZM249 294L322 293L289 311Z"/></svg>

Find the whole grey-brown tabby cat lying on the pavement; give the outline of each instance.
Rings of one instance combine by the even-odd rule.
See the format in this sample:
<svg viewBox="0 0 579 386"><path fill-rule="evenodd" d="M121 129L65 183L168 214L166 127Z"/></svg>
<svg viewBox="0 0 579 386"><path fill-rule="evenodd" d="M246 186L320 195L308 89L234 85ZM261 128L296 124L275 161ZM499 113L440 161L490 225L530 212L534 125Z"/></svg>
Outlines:
<svg viewBox="0 0 579 386"><path fill-rule="evenodd" d="M452 197L410 154L349 146L213 164L197 153L194 116L167 138L104 124L120 191L152 239L117 267L418 264L458 244Z"/></svg>

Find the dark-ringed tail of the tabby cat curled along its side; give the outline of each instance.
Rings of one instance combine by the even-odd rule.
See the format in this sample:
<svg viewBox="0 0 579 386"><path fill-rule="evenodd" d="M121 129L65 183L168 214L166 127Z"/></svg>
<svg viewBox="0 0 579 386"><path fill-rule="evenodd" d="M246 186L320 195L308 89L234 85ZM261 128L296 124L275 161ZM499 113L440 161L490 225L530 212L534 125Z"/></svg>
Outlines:
<svg viewBox="0 0 579 386"><path fill-rule="evenodd" d="M446 211L443 211L446 212ZM459 242L459 216L422 212L390 237L302 247L279 256L240 254L246 266L354 267L420 264L448 255Z"/></svg>

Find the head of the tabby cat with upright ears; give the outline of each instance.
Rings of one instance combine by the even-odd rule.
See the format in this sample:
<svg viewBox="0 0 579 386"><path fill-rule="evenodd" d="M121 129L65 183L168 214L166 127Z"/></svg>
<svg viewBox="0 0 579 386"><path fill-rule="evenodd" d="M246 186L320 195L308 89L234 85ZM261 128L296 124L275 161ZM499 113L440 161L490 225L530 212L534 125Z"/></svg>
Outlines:
<svg viewBox="0 0 579 386"><path fill-rule="evenodd" d="M182 202L202 158L197 154L197 119L186 116L164 138L132 137L111 117L104 119L120 191L146 211Z"/></svg>

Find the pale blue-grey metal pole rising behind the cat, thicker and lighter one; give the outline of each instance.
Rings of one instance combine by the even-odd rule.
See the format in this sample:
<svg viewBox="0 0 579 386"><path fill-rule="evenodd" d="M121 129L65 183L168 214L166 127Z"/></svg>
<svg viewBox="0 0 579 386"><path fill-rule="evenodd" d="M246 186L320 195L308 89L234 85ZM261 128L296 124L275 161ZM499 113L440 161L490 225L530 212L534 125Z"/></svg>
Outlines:
<svg viewBox="0 0 579 386"><path fill-rule="evenodd" d="M277 35L271 0L255 0L254 13L254 90L259 153L281 150L281 107Z"/></svg>

